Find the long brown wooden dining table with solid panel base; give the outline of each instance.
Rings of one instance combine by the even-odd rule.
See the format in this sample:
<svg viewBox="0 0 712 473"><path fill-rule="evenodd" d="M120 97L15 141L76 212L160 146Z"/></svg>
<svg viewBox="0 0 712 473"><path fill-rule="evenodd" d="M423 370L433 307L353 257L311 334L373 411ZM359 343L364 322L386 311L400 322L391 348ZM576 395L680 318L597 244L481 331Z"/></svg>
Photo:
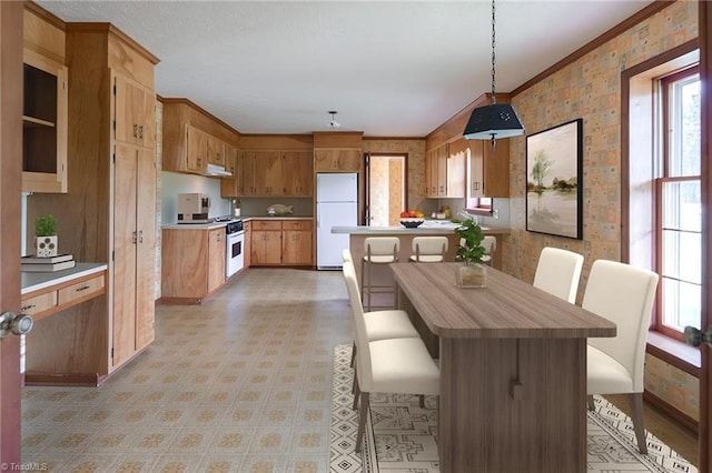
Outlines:
<svg viewBox="0 0 712 473"><path fill-rule="evenodd" d="M457 286L458 264L390 264L439 359L441 472L586 471L586 338L615 324L492 268Z"/></svg>

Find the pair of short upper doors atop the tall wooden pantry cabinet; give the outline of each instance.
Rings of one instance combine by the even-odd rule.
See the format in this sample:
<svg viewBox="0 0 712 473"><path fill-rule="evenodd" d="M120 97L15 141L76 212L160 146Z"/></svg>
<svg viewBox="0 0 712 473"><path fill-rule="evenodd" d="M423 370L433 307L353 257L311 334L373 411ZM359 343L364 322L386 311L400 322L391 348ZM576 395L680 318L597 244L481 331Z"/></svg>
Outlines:
<svg viewBox="0 0 712 473"><path fill-rule="evenodd" d="M156 118L152 91L131 79L113 74L115 139L125 143L154 148L156 144Z"/></svg>

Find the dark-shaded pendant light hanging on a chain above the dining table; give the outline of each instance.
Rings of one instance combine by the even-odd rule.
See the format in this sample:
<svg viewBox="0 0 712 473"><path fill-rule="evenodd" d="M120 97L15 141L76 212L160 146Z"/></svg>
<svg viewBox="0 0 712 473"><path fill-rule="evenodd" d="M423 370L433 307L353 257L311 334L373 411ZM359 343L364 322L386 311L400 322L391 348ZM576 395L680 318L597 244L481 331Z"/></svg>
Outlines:
<svg viewBox="0 0 712 473"><path fill-rule="evenodd" d="M492 102L473 110L463 138L466 140L492 140L524 134L524 125L514 108L508 103L496 103L494 91L494 0L492 0Z"/></svg>

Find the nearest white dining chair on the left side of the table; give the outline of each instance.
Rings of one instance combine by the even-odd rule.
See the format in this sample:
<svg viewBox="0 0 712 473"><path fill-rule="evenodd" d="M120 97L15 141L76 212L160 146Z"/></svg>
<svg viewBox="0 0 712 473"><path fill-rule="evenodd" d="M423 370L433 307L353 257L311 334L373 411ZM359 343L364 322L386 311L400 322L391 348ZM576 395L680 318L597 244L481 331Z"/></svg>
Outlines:
<svg viewBox="0 0 712 473"><path fill-rule="evenodd" d="M344 264L344 279L349 299L357 300L358 283L352 264ZM369 341L366 320L359 308L358 304L352 304L358 348L354 373L354 409L360 400L356 452L360 452L372 392L439 395L439 370L423 340L412 338Z"/></svg>

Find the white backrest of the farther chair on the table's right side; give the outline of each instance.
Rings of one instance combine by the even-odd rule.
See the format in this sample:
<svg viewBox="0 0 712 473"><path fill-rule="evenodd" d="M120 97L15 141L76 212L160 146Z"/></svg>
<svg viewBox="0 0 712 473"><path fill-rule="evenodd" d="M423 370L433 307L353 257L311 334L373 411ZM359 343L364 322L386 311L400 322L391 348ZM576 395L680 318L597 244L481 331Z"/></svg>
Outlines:
<svg viewBox="0 0 712 473"><path fill-rule="evenodd" d="M581 254L546 246L538 256L533 285L573 304L576 302L581 268Z"/></svg>

